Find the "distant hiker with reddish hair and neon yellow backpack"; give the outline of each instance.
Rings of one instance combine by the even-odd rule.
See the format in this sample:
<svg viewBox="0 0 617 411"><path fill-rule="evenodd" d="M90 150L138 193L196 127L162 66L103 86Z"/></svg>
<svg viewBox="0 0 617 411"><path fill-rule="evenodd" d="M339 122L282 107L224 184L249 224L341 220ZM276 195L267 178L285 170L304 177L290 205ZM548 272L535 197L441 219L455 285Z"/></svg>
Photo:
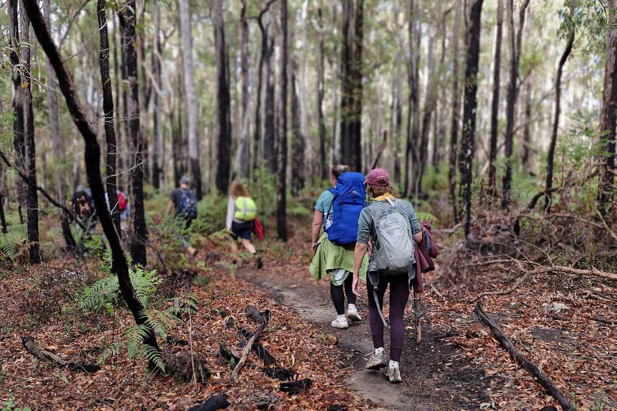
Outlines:
<svg viewBox="0 0 617 411"><path fill-rule="evenodd" d="M233 265L238 267L238 238L242 240L242 246L253 255L257 269L263 267L262 258L257 254L255 246L251 242L251 235L255 228L257 218L257 205L249 195L249 190L244 187L242 181L234 180L230 185L230 197L227 203L227 217L225 227L231 235L231 255Z"/></svg>

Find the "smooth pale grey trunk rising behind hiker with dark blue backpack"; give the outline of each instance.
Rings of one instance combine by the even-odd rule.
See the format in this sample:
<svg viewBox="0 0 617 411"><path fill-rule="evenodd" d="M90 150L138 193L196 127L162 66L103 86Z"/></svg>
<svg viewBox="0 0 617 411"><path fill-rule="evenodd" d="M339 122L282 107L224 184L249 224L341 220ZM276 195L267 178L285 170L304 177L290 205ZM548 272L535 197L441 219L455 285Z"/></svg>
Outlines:
<svg viewBox="0 0 617 411"><path fill-rule="evenodd" d="M196 189L197 200L203 197L201 182L201 166L199 163L199 140L197 139L197 89L193 64L193 35L191 31L191 13L188 0L179 0L180 4L180 37L183 50L184 93L186 96L186 115L188 116L188 151L189 174ZM220 6L220 0L217 0ZM217 9L215 3L215 10ZM222 23L221 23L222 24ZM215 29L216 30L216 29ZM218 58L217 58L218 69ZM229 153L227 153L229 157ZM220 160L220 159L219 159ZM227 158L226 161L229 161Z"/></svg>

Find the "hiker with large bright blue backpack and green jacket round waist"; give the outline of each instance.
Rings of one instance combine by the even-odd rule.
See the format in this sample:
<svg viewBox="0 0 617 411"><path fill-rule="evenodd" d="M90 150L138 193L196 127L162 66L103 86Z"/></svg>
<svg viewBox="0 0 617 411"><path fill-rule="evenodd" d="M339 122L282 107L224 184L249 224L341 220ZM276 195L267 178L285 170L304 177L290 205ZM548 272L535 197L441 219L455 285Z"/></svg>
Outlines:
<svg viewBox="0 0 617 411"><path fill-rule="evenodd" d="M330 296L336 309L332 327L349 327L348 320L362 320L355 306L356 296L352 291L354 270L354 247L360 211L366 205L364 176L347 173L347 166L332 168L330 182L333 188L321 193L315 205L312 227L313 261L309 271L316 280L330 277ZM323 234L320 235L323 227ZM366 273L366 261L359 274ZM347 315L345 312L347 296Z"/></svg>

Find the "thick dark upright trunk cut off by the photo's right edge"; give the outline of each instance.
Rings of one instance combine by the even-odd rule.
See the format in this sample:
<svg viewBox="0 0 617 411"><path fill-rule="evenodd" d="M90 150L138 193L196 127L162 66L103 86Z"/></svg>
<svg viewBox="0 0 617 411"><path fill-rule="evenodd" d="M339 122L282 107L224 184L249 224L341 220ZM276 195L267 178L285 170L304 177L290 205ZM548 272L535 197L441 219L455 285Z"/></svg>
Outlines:
<svg viewBox="0 0 617 411"><path fill-rule="evenodd" d="M604 91L600 112L600 179L598 180L598 211L606 216L610 211L615 181L615 123L617 121L617 0L608 2L607 57L604 68Z"/></svg>

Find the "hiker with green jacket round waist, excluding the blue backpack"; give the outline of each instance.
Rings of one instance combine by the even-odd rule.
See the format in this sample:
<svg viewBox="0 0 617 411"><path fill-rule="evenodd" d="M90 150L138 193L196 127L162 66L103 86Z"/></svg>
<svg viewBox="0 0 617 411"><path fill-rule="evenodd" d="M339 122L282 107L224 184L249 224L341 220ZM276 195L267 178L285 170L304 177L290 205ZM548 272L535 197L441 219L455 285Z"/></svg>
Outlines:
<svg viewBox="0 0 617 411"><path fill-rule="evenodd" d="M332 168L330 182L332 187L336 187L337 180L342 173L347 171L347 166L337 165ZM362 317L358 314L355 307L355 295L352 291L353 269L354 269L354 245L336 245L328 240L326 229L332 224L333 216L331 212L334 193L326 190L321 193L315 205L312 227L313 261L309 271L316 280L329 275L330 277L330 296L336 309L336 319L331 322L332 327L344 329L349 327L347 320L360 321ZM321 229L324 231L321 233ZM366 273L366 262L361 274ZM345 315L345 295L347 295L347 316Z"/></svg>

